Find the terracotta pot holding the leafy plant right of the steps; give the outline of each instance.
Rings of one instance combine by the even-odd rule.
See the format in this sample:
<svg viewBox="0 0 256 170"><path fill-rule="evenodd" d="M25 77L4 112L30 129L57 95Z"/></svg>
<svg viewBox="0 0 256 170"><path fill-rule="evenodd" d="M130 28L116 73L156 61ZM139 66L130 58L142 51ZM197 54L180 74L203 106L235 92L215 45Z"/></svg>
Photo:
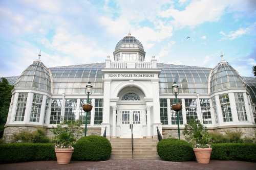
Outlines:
<svg viewBox="0 0 256 170"><path fill-rule="evenodd" d="M211 148L194 148L194 153L198 163L209 163Z"/></svg>

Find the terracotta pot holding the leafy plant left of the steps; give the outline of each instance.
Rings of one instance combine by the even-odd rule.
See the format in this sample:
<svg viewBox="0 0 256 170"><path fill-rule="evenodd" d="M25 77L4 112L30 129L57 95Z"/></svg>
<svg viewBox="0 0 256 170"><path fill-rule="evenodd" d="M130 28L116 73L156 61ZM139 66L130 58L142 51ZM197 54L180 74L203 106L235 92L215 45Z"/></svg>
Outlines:
<svg viewBox="0 0 256 170"><path fill-rule="evenodd" d="M68 164L71 160L74 148L55 149L57 163Z"/></svg>

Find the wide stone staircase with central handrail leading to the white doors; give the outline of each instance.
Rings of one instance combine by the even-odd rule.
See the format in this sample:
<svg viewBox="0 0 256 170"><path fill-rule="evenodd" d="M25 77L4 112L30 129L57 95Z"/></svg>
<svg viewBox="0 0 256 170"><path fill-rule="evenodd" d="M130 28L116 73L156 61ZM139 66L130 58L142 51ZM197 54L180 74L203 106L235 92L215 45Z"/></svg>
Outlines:
<svg viewBox="0 0 256 170"><path fill-rule="evenodd" d="M113 138L111 159L160 159L157 154L157 140L134 139L134 157L131 139Z"/></svg>

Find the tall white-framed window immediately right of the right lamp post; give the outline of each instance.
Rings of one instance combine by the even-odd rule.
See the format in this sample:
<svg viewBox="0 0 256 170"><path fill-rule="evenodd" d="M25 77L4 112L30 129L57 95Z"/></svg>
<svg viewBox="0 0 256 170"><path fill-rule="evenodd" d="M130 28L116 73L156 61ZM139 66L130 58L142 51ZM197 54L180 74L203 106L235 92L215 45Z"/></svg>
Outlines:
<svg viewBox="0 0 256 170"><path fill-rule="evenodd" d="M197 119L197 99L185 99L185 109L187 122L190 119Z"/></svg>

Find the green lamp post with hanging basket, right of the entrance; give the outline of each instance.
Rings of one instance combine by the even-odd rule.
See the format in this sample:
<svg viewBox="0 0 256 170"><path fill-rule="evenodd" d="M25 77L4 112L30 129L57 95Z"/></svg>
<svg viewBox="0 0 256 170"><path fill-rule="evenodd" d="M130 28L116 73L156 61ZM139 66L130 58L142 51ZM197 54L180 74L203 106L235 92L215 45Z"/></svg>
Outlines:
<svg viewBox="0 0 256 170"><path fill-rule="evenodd" d="M178 112L181 110L182 105L180 103L178 103L178 99L177 99L177 95L179 94L179 86L176 84L176 82L174 82L173 84L173 94L175 95L175 104L172 105L172 109L174 111L176 111L176 115L177 115L177 124L178 124L178 137L180 139L180 117Z"/></svg>

